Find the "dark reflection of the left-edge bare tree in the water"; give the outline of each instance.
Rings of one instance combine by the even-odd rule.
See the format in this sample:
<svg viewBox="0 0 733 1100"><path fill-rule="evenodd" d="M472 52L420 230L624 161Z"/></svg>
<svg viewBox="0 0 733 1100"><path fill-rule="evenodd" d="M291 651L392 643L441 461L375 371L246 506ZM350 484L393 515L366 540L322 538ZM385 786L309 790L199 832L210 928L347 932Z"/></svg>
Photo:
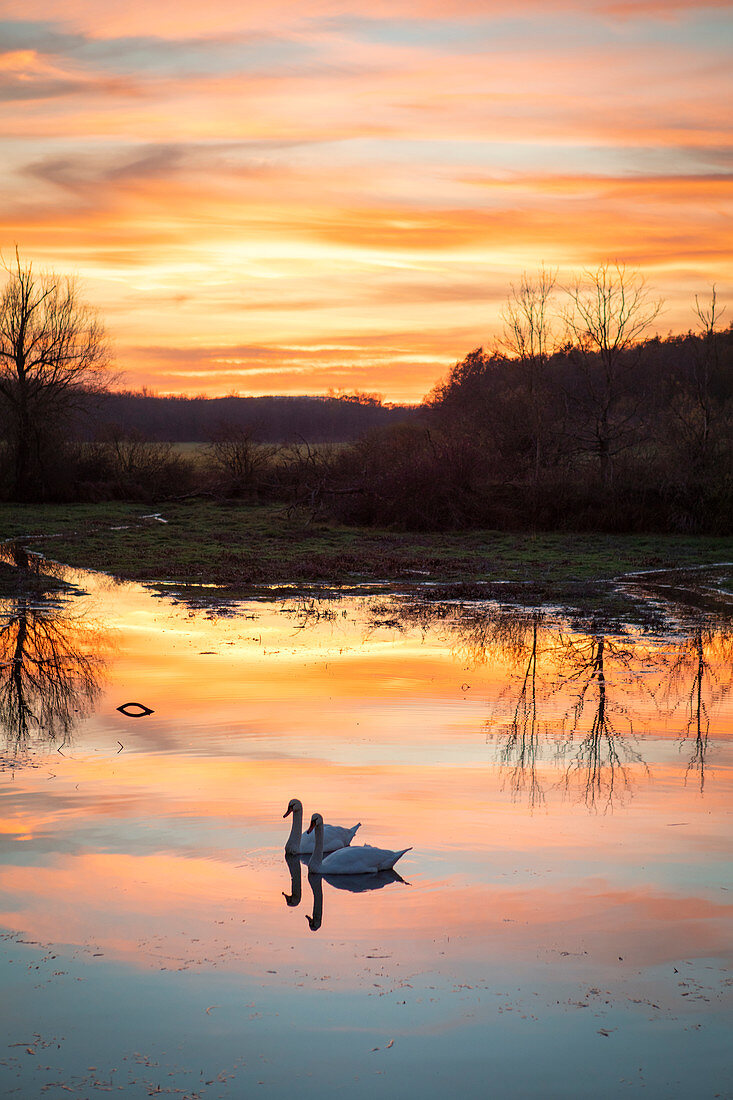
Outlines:
<svg viewBox="0 0 733 1100"><path fill-rule="evenodd" d="M14 547L13 560L18 593L0 602L0 726L15 765L33 738L68 744L94 710L105 659L99 628L39 591L37 559Z"/></svg>

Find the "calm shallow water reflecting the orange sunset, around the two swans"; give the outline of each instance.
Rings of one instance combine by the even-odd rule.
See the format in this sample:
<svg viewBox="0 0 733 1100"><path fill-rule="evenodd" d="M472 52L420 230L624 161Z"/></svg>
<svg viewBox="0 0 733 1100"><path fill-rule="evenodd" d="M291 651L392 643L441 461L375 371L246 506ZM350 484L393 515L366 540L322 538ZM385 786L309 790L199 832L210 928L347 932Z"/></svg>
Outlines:
<svg viewBox="0 0 733 1100"><path fill-rule="evenodd" d="M4 1096L733 1096L726 624L76 580L0 606Z"/></svg>

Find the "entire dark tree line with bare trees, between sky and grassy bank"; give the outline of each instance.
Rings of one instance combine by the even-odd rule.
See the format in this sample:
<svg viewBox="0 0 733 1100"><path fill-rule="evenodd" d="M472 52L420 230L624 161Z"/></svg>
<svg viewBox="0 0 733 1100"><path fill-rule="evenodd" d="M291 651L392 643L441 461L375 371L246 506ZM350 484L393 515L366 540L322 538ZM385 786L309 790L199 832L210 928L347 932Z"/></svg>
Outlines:
<svg viewBox="0 0 733 1100"><path fill-rule="evenodd" d="M714 288L688 332L660 338L636 272L602 264L564 289L525 274L495 344L409 409L110 392L103 327L73 280L18 254L6 272L6 498L208 494L405 529L731 530L733 326ZM206 443L195 459L173 446L184 438Z"/></svg>

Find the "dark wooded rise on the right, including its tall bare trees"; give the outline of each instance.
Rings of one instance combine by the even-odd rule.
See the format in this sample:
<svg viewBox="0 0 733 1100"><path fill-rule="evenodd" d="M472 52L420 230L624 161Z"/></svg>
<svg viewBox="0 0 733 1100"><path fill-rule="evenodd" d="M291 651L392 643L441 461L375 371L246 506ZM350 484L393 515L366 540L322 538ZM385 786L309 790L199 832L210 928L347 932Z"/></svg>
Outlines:
<svg viewBox="0 0 733 1100"><path fill-rule="evenodd" d="M729 534L733 327L714 288L694 329L647 332L661 302L615 264L561 292L511 288L503 332L458 362L418 422L352 449L340 518L415 528Z"/></svg>

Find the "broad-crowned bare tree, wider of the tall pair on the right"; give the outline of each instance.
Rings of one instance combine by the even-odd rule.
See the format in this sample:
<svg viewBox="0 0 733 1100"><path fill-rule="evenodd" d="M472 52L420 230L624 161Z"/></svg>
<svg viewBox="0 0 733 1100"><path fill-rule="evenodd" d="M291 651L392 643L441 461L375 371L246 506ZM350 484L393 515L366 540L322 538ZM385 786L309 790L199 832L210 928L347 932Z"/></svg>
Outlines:
<svg viewBox="0 0 733 1100"><path fill-rule="evenodd" d="M564 317L584 378L583 392L572 399L581 406L584 433L598 455L602 484L610 488L613 458L634 439L637 409L626 383L636 364L630 352L641 349L639 339L663 302L652 299L638 272L619 263L586 271L568 295Z"/></svg>

